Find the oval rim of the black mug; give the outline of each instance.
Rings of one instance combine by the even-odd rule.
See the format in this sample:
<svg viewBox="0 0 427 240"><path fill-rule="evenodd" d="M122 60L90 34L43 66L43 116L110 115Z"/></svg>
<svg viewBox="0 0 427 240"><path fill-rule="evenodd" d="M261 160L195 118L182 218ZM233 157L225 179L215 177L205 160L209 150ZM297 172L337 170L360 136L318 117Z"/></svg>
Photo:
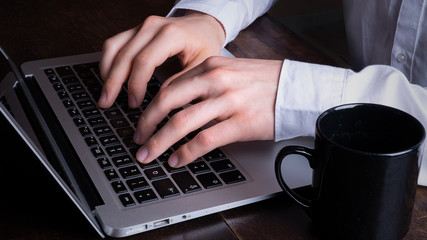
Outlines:
<svg viewBox="0 0 427 240"><path fill-rule="evenodd" d="M344 109L350 109L350 108L355 108L355 107L360 107L360 106L371 106L371 107L380 107L380 108L384 108L384 109L388 109L391 110L395 113L398 114L402 114L405 115L405 117L410 118L412 121L414 121L415 124L417 124L417 128L422 130L422 136L421 138L417 141L416 144L405 148L404 150L400 150L400 151L395 151L395 152L369 152L369 151L362 151L362 150L358 150L358 149L354 149L351 147L347 147L345 145L342 145L338 142L333 141L332 139L330 139L320 128L320 122L321 120L328 114L330 114L331 112L334 111L339 111L339 110L344 110ZM375 103L349 103L349 104L342 104L342 105L338 105L332 108L329 108L328 110L324 111L323 113L321 113L319 115L319 117L316 120L316 135L319 135L322 139L326 140L328 143L339 146L340 148L343 148L347 151L351 151L351 152L355 152L358 154L362 154L362 155L375 155L375 156L385 156L385 157L392 157L392 156L398 156L398 155L403 155L409 152L412 152L415 149L418 149L425 141L426 138L426 129L424 128L424 126L421 124L421 122L415 118L414 116L412 116L411 114L404 112L400 109L394 108L394 107L390 107L390 106L386 106L386 105L381 105L381 104L375 104Z"/></svg>

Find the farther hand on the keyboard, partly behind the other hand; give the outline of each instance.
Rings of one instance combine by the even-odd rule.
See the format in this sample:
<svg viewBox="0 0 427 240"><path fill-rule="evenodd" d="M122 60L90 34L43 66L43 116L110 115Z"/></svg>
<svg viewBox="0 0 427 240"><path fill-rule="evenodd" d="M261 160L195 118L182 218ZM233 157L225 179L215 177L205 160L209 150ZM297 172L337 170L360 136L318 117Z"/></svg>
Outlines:
<svg viewBox="0 0 427 240"><path fill-rule="evenodd" d="M98 106L110 107L129 78L129 106L138 107L154 69L167 58L178 56L183 66L178 76L219 55L224 41L222 25L207 14L187 11L177 18L148 17L142 25L105 41L100 62L105 83Z"/></svg>

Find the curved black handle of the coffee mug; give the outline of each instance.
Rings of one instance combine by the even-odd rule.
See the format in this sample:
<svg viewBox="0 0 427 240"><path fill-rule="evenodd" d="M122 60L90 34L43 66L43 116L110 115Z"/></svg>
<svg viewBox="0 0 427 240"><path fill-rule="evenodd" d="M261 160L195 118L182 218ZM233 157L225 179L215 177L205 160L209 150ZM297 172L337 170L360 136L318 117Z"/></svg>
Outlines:
<svg viewBox="0 0 427 240"><path fill-rule="evenodd" d="M287 155L291 155L291 154L301 155L308 160L310 167L313 169L313 166L314 166L313 164L315 161L314 157L313 157L313 153L314 153L314 150L307 148L307 147L286 146L286 147L282 148L280 150L280 152L277 154L276 162L275 162L276 178L277 178L277 181L279 182L280 187L282 187L282 189L285 190L285 192L289 196L291 196L299 205L301 205L305 209L311 209L313 200L300 196L299 194L295 193L286 184L286 182L283 180L283 176L282 176L282 170L281 170L282 169L282 161L283 161L283 159L285 159L285 157Z"/></svg>

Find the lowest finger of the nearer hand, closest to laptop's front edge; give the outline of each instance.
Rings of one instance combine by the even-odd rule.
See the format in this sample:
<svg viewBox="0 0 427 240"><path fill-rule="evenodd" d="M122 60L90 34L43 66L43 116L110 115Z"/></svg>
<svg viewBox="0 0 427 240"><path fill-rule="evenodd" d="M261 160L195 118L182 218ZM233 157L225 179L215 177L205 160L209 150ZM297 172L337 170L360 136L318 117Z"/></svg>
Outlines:
<svg viewBox="0 0 427 240"><path fill-rule="evenodd" d="M182 167L215 148L241 140L241 123L232 117L199 132L169 158L171 167Z"/></svg>

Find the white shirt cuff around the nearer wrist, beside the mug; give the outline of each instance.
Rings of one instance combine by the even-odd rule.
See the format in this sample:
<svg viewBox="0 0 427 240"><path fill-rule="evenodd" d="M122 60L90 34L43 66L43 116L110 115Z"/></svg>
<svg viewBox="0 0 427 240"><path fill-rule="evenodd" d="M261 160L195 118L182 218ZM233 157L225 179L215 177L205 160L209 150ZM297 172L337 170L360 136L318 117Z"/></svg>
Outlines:
<svg viewBox="0 0 427 240"><path fill-rule="evenodd" d="M285 60L275 105L275 141L314 136L317 117L342 102L347 70Z"/></svg>

